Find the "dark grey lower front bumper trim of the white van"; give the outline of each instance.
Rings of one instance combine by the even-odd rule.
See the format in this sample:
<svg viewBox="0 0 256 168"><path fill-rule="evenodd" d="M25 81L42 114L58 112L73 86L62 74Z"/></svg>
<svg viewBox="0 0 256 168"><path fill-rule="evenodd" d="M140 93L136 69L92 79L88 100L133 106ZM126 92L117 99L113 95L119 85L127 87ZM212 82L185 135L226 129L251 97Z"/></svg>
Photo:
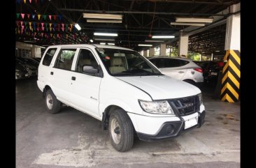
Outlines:
<svg viewBox="0 0 256 168"><path fill-rule="evenodd" d="M159 139L169 139L172 137L178 137L180 134L192 130L193 128L200 128L204 124L204 118L206 116L205 110L203 112L198 112L198 123L190 128L185 128L184 119L180 118L180 121L168 121L162 124L162 126L157 131L156 135L147 135L141 132L137 132L138 138L142 141L152 142Z"/></svg>

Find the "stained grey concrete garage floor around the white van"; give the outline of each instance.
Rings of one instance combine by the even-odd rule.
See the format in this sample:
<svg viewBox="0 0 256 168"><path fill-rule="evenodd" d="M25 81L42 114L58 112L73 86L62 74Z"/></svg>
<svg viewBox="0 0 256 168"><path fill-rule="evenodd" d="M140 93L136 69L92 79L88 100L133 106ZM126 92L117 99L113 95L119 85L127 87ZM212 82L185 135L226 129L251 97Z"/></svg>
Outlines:
<svg viewBox="0 0 256 168"><path fill-rule="evenodd" d="M101 122L71 107L48 114L36 79L16 83L16 167L240 167L240 103L211 99L206 122L175 139L141 142L119 153Z"/></svg>

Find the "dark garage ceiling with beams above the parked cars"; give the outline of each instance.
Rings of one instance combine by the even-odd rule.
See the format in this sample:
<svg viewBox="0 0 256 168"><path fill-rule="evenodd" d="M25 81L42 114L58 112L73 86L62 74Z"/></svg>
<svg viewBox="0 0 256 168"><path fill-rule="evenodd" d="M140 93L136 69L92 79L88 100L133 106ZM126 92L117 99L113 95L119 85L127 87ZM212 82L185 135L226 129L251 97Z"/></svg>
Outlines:
<svg viewBox="0 0 256 168"><path fill-rule="evenodd" d="M117 46L143 49L138 44L152 40L148 35L174 35L187 26L171 25L176 17L213 17L227 15L216 14L237 0L17 0L16 1L16 40L34 45L57 45L74 43L115 43ZM83 13L109 13L122 15L122 23L92 23L87 22ZM78 31L74 24L81 26ZM225 38L225 26L219 26L214 31L190 36L190 49L204 52L199 47L199 40L204 39L203 45L222 32ZM117 37L96 37L94 32L118 33ZM201 36L202 34L202 36ZM204 35L203 35L204 34ZM220 39L223 39L223 36ZM109 39L114 39L110 41ZM211 49L217 50L218 39ZM171 43L166 40L166 43ZM213 42L212 42L213 43ZM157 45L157 43L148 43ZM206 47L207 48L207 47Z"/></svg>

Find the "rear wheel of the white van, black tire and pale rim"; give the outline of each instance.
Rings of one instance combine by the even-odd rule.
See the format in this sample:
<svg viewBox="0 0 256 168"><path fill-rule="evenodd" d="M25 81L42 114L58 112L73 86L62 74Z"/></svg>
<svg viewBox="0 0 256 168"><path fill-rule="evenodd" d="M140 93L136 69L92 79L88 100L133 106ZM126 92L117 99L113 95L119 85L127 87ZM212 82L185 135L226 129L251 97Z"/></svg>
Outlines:
<svg viewBox="0 0 256 168"><path fill-rule="evenodd" d="M57 100L55 94L52 92L51 89L48 89L45 93L45 106L48 112L51 114L59 112L60 102L59 100Z"/></svg>

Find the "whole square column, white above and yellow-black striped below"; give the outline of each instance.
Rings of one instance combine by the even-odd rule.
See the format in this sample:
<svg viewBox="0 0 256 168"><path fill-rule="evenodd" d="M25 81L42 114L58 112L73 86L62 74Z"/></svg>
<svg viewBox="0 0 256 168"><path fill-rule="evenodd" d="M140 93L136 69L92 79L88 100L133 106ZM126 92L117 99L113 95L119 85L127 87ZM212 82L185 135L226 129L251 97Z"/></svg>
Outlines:
<svg viewBox="0 0 256 168"><path fill-rule="evenodd" d="M227 17L225 50L220 99L236 102L240 99L240 14Z"/></svg>

